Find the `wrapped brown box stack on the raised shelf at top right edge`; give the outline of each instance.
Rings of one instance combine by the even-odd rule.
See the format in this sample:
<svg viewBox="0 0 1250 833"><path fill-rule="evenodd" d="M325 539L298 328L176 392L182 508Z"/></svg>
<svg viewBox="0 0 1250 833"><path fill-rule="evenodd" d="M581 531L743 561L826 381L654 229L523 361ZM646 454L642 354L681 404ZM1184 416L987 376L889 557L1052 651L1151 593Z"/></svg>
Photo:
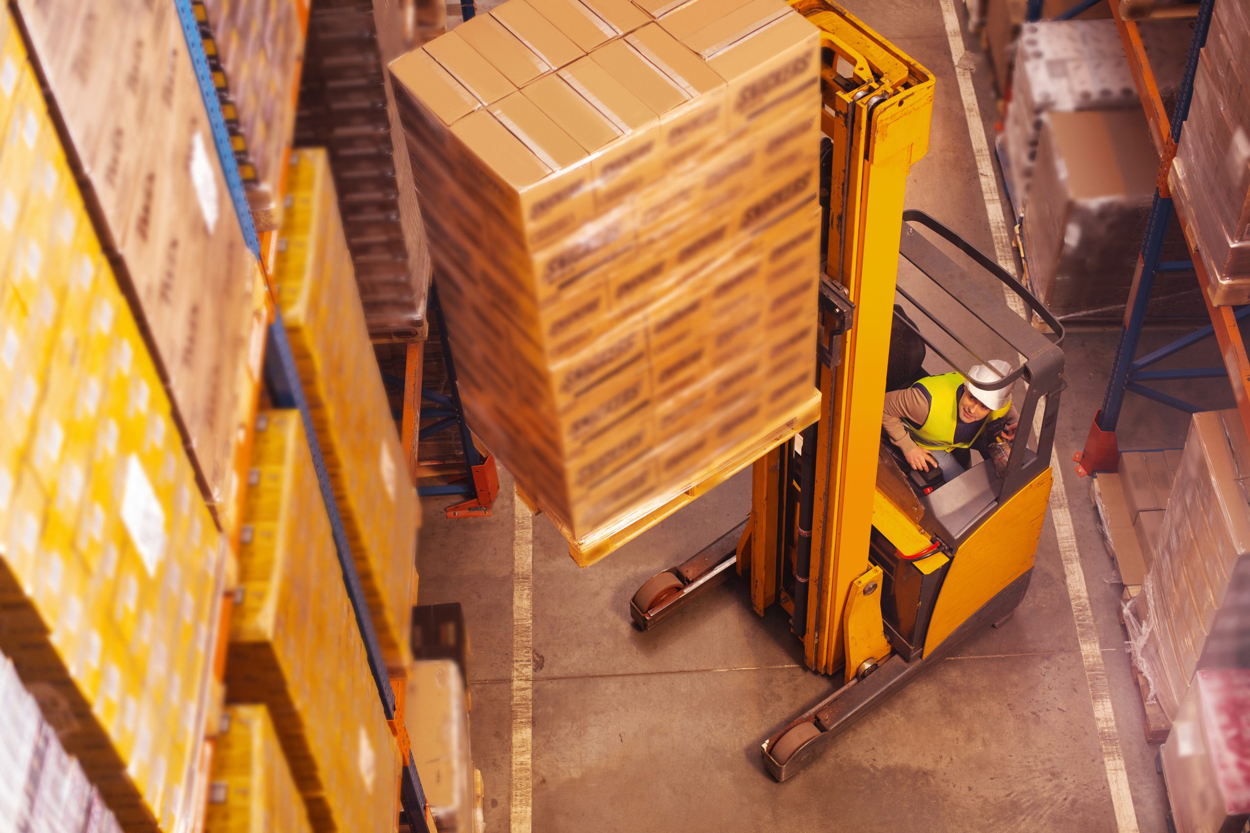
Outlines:
<svg viewBox="0 0 1250 833"><path fill-rule="evenodd" d="M1250 10L1219 4L1170 182L1216 305L1250 301Z"/></svg>

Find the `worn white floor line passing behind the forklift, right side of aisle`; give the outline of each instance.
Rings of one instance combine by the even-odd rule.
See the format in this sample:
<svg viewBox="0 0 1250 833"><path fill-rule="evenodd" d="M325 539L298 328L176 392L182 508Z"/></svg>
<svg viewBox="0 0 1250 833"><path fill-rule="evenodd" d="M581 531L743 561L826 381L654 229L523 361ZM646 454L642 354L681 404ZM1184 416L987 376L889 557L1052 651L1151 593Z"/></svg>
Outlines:
<svg viewBox="0 0 1250 833"><path fill-rule="evenodd" d="M994 236L994 256L1011 275L1015 275L1015 257L1011 241L1008 237L1008 224L1002 216L1002 199L999 195L998 179L990 160L990 149L985 141L985 129L972 87L970 60L965 60L964 35L959 27L952 0L941 0L942 21L946 26L946 40L950 44L950 56L955 64L955 77L959 81L959 95L964 104L964 117L968 121L968 134L972 140L972 152L976 156L976 171L981 182L981 196L985 200L985 212ZM1025 315L1022 301L1004 287L1009 306L1019 315ZM1041 412L1038 412L1041 418ZM1038 426L1035 426L1036 431ZM1055 523L1055 538L1064 562L1064 578L1068 583L1068 597L1072 604L1072 618L1076 621L1076 638L1081 648L1081 664L1085 667L1085 682L1090 689L1094 706L1094 724L1098 727L1099 747L1102 753L1102 766L1106 769L1108 787L1111 791L1111 807L1115 811L1115 826L1120 833L1138 833L1138 816L1132 808L1132 793L1129 789L1129 776L1124 767L1124 752L1120 749L1120 734L1115 727L1115 712L1111 708L1111 692L1106 681L1106 666L1102 664L1102 651L1094 626L1094 612L1090 608L1089 591L1085 587L1085 573L1081 571L1080 551L1076 548L1076 532L1072 528L1072 516L1068 508L1068 490L1064 486L1059 452L1050 450L1050 468L1055 482L1050 490L1050 517Z"/></svg>

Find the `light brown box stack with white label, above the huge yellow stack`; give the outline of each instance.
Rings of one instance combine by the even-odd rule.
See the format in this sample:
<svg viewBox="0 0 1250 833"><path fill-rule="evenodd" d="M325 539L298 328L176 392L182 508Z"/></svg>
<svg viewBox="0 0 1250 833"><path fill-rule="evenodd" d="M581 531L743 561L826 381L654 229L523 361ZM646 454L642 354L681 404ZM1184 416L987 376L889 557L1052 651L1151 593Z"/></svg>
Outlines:
<svg viewBox="0 0 1250 833"><path fill-rule="evenodd" d="M81 165L75 174L100 209L104 244L142 310L209 501L229 502L239 427L250 418L240 417L245 391L235 381L248 375L264 321L252 293L258 264L235 216L176 7L128 0L22 0L18 7ZM38 85L25 89L38 96ZM56 144L46 119L41 131L39 147ZM15 166L25 152L8 152L16 146L18 136L5 142Z"/></svg>

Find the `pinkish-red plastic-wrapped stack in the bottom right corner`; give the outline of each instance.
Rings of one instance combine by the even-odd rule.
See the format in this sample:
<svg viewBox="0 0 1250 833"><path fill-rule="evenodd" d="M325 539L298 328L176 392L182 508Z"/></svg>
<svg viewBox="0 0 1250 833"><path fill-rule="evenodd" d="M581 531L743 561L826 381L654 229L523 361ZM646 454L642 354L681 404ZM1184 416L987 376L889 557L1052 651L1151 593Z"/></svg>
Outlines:
<svg viewBox="0 0 1250 833"><path fill-rule="evenodd" d="M1250 671L1199 671L1160 761L1178 833L1241 831L1250 818Z"/></svg>

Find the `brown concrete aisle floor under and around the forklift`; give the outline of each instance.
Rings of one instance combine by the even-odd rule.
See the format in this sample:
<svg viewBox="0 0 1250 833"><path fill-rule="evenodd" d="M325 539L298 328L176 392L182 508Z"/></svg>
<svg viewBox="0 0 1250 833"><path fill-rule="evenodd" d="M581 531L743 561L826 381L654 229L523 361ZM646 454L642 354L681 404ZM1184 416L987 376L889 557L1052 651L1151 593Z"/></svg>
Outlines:
<svg viewBox="0 0 1250 833"><path fill-rule="evenodd" d="M934 0L846 4L934 71L928 156L912 169L909 207L929 211L992 254L968 126ZM962 15L962 4L956 2ZM975 87L992 139L989 66L972 39ZM1178 333L1150 331L1145 346ZM1056 443L1065 461L1081 568L1109 678L1138 826L1165 831L1166 796L1130 678L1116 616L1120 586L1089 503L1089 481L1066 461L1085 440L1115 350L1111 331L1071 332L1069 388ZM1210 346L1196 348L1218 363ZM1198 358L1182 357L1185 361ZM1230 407L1220 381L1178 386ZM1180 446L1188 417L1130 396L1124 448ZM1056 480L1056 488L1058 488ZM629 598L741 520L748 473L720 486L589 569L569 558L546 518L534 518L532 831L1116 831L1094 709L1052 521L1016 614L852 727L798 778L776 784L759 744L831 691L804 668L779 611L758 618L736 579L650 633ZM512 667L511 480L501 475L490 518L448 521L425 502L421 602L461 602L471 637L472 754L486 826L510 829Z"/></svg>

